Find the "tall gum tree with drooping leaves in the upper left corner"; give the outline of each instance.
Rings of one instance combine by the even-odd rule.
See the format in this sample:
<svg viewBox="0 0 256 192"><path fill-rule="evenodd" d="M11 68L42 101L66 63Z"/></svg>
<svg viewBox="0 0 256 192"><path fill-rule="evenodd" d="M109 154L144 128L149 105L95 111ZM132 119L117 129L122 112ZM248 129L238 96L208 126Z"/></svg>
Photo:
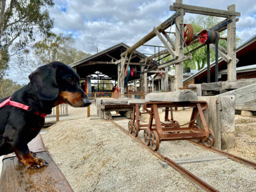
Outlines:
<svg viewBox="0 0 256 192"><path fill-rule="evenodd" d="M10 56L24 49L35 35L48 35L53 26L47 8L52 0L2 0L0 2L0 79Z"/></svg>

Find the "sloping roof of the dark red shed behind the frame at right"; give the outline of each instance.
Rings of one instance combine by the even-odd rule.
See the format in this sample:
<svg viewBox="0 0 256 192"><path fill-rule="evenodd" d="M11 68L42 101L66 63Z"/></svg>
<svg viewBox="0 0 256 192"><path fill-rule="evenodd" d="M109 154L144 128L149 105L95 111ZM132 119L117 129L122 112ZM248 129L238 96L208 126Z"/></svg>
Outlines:
<svg viewBox="0 0 256 192"><path fill-rule="evenodd" d="M253 43L256 44L256 35L252 36L251 38L249 38L248 40L246 40L245 42L243 42L242 44L240 44L236 48L236 56L237 56L237 58L239 59L239 56L240 55L242 56L242 54L244 52L249 52L252 49L256 50L256 46L250 46ZM221 64L223 65L223 64L226 64L226 62L222 58L219 58L218 59L218 64L219 65L221 65ZM215 66L215 61L210 63L210 68L212 68L213 66ZM214 70L215 70L215 68L214 68ZM183 83L191 80L192 78L195 78L196 76L198 76L198 75L200 75L200 74L202 74L203 72L206 72L206 71L207 71L207 65L204 68L200 69L198 72L196 72L196 73L192 74L191 76L189 76L188 78L184 79Z"/></svg>

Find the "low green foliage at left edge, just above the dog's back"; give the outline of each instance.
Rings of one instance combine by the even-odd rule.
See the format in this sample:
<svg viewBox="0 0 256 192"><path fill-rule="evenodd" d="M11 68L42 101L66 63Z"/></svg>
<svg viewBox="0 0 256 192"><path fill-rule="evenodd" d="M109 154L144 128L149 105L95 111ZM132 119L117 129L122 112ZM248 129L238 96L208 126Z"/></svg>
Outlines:
<svg viewBox="0 0 256 192"><path fill-rule="evenodd" d="M2 79L0 81L0 98L11 96L16 90L22 88L24 85L18 84L11 79Z"/></svg>

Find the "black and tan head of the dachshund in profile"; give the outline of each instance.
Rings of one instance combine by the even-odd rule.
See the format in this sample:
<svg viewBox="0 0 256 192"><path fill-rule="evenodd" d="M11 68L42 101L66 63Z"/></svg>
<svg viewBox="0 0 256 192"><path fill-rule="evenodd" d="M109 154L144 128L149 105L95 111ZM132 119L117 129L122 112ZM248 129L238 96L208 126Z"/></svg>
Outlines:
<svg viewBox="0 0 256 192"><path fill-rule="evenodd" d="M91 104L79 86L80 77L70 66L51 62L41 66L29 76L32 88L42 100L56 100L55 105L66 103L73 107Z"/></svg>

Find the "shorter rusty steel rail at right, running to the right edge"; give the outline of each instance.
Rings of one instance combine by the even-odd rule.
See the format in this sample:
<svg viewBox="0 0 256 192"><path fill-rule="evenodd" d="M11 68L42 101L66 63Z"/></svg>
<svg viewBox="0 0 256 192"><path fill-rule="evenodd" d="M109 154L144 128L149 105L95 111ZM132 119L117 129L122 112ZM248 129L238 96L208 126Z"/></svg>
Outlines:
<svg viewBox="0 0 256 192"><path fill-rule="evenodd" d="M217 153L217 154L226 156L226 157L228 157L228 158L230 158L230 159L232 159L232 160L234 160L234 161L236 161L236 162L239 162L239 163L242 163L242 164L246 164L246 165L248 165L248 166L250 166L250 167L256 169L256 163L254 163L254 162L252 162L252 161L246 160L246 159L241 158L241 157L238 157L238 156L236 156L236 155L232 155L232 154L227 153L227 152L224 152L224 151L222 151L222 150L218 150L218 149L215 149L215 148L208 148L208 147L204 146L203 144L201 144L201 143L196 143L196 142L194 142L194 141L192 141L192 140L188 140L188 142L190 142L190 143L192 143L192 144L195 144L195 145L197 145L197 146L200 146L200 147L202 147L202 148L205 148L205 149L207 149L207 150L210 150L210 151L212 151L212 152L214 152L214 153Z"/></svg>

